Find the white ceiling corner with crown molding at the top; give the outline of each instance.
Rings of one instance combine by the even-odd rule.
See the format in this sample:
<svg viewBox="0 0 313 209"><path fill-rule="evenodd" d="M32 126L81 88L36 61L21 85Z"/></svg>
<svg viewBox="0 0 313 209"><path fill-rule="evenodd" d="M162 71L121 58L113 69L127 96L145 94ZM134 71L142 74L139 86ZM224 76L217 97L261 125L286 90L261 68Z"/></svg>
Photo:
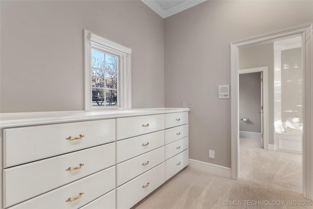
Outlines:
<svg viewBox="0 0 313 209"><path fill-rule="evenodd" d="M206 0L141 0L162 18L167 18L181 11L196 6Z"/></svg>

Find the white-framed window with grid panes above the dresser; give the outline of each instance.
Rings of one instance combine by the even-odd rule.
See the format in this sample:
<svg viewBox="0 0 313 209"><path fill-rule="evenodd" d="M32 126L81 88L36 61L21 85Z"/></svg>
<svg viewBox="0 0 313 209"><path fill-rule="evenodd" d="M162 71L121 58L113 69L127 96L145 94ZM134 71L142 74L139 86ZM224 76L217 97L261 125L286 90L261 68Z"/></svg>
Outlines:
<svg viewBox="0 0 313 209"><path fill-rule="evenodd" d="M85 34L85 110L131 109L132 49Z"/></svg>

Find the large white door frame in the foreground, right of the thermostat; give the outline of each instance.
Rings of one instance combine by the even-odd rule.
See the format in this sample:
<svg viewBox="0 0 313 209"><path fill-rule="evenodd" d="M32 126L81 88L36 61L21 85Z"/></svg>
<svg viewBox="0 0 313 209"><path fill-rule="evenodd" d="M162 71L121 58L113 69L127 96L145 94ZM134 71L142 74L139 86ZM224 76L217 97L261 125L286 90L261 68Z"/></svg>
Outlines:
<svg viewBox="0 0 313 209"><path fill-rule="evenodd" d="M284 30L267 33L230 43L230 85L231 85L231 172L232 179L239 178L239 49L271 43L287 36L302 37L303 54L303 196L313 200L313 23L307 23Z"/></svg>

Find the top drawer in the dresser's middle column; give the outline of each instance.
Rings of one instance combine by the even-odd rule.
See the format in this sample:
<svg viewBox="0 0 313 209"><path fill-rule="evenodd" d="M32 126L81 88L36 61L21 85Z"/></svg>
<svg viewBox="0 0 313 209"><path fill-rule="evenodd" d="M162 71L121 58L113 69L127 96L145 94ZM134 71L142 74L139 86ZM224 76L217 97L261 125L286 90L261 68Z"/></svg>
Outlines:
<svg viewBox="0 0 313 209"><path fill-rule="evenodd" d="M164 129L164 115L116 119L116 139L126 139Z"/></svg>

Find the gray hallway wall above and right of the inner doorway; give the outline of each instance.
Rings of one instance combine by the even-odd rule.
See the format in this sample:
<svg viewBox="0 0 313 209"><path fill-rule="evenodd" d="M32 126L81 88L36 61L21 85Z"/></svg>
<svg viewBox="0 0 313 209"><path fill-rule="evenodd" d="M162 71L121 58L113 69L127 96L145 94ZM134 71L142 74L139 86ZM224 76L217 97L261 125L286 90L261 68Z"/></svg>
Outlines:
<svg viewBox="0 0 313 209"><path fill-rule="evenodd" d="M261 66L268 66L268 143L274 144L274 43L239 50L239 69Z"/></svg>

